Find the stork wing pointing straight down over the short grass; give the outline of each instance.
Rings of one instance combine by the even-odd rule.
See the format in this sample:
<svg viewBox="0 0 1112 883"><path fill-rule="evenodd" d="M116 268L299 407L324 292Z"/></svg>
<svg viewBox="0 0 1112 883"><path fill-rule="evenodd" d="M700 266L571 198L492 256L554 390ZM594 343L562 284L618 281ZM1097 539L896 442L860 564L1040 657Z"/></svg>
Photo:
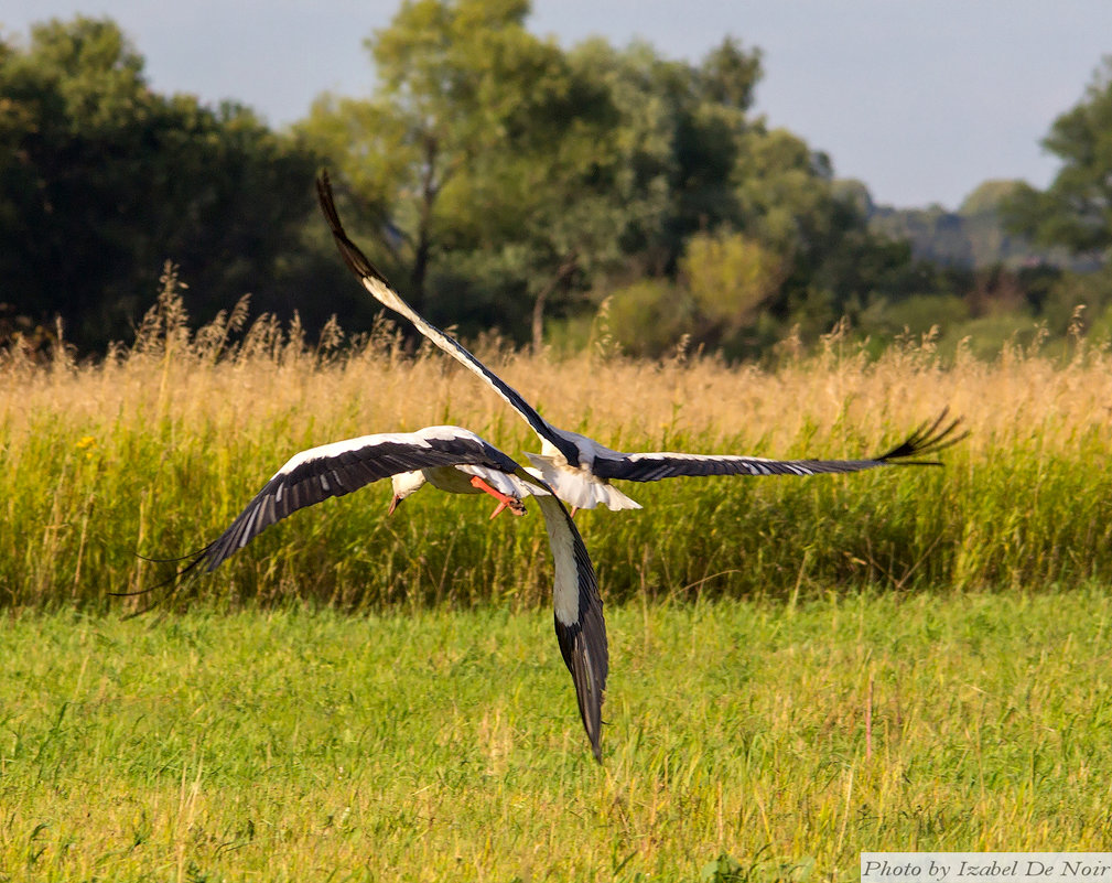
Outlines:
<svg viewBox="0 0 1112 883"><path fill-rule="evenodd" d="M556 568L553 586L556 639L564 664L572 673L579 716L590 740L590 750L595 760L602 763L603 696L609 662L606 621L603 618L603 601L598 596L595 568L564 504L549 495L535 499L545 516Z"/></svg>

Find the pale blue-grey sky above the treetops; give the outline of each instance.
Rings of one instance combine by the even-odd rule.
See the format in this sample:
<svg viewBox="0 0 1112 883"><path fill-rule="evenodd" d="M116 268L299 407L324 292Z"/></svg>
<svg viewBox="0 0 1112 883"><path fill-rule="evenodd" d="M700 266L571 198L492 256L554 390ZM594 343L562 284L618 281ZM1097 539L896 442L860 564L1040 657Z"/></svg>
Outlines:
<svg viewBox="0 0 1112 883"><path fill-rule="evenodd" d="M365 96L363 40L396 0L4 0L0 28L110 16L158 91L235 98L272 126L324 90ZM726 34L764 52L756 110L901 207L955 208L990 178L1044 187L1039 146L1112 52L1110 0L534 0L530 28L570 46L634 38L697 61Z"/></svg>

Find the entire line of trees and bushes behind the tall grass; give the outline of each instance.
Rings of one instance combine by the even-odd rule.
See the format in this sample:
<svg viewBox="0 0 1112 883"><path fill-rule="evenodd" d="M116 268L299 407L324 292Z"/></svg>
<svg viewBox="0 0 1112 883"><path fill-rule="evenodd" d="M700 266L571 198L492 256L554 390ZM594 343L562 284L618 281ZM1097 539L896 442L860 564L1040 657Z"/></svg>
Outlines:
<svg viewBox="0 0 1112 883"><path fill-rule="evenodd" d="M843 317L882 344L939 323L1064 333L1082 301L1112 327L1109 63L1048 135L1054 182L979 201L1001 231L1096 270L974 269L922 257L830 157L753 112L758 49L726 38L697 63L644 43L564 49L528 12L408 0L366 40L374 92L322 95L284 131L156 93L109 19L0 40L0 340L47 339L56 316L83 351L127 339L167 260L200 320L251 292L309 328L367 327L375 309L317 216L322 166L391 282L465 335L583 346L602 311L632 355L735 358Z"/></svg>

